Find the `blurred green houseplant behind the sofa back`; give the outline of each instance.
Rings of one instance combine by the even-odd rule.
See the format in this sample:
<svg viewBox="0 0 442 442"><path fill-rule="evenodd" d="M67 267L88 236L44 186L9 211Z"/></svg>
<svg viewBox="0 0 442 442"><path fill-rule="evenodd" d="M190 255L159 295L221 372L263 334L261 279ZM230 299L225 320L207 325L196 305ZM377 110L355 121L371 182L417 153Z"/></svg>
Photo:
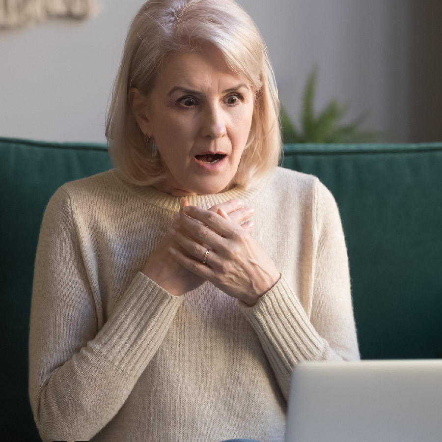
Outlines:
<svg viewBox="0 0 442 442"><path fill-rule="evenodd" d="M317 78L318 68L315 66L305 83L300 129L296 128L287 111L281 106L280 120L284 143L360 143L378 140L378 132L361 129L366 119L365 114L348 124L341 124L347 107L337 100L331 100L319 115L315 115Z"/></svg>

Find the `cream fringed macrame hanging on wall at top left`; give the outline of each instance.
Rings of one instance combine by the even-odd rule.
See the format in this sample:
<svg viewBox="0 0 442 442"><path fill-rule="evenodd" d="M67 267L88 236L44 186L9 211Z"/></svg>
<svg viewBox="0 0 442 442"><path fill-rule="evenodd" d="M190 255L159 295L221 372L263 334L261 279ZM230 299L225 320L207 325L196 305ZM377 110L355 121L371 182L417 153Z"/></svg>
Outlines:
<svg viewBox="0 0 442 442"><path fill-rule="evenodd" d="M98 11L96 0L0 0L0 29L49 17L84 19Z"/></svg>

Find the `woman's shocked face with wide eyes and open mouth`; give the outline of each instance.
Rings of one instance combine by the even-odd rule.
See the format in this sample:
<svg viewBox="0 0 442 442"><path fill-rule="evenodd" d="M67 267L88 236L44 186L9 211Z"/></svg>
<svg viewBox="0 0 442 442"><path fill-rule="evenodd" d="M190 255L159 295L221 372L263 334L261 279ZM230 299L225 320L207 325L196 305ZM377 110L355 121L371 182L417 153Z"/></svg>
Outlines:
<svg viewBox="0 0 442 442"><path fill-rule="evenodd" d="M246 146L253 114L247 80L232 72L221 52L170 55L138 118L153 136L174 195L218 193L229 186Z"/></svg>

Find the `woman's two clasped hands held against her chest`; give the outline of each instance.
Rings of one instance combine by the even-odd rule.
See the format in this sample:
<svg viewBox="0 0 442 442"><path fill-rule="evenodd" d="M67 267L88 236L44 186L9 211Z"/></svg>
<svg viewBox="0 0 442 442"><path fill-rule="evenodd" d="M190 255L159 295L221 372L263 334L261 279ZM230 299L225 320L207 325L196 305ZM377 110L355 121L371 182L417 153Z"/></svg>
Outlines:
<svg viewBox="0 0 442 442"><path fill-rule="evenodd" d="M249 234L253 210L241 206L231 200L204 210L183 198L180 213L143 272L172 295L209 281L233 298L256 304L280 273ZM159 259L166 267L161 269Z"/></svg>

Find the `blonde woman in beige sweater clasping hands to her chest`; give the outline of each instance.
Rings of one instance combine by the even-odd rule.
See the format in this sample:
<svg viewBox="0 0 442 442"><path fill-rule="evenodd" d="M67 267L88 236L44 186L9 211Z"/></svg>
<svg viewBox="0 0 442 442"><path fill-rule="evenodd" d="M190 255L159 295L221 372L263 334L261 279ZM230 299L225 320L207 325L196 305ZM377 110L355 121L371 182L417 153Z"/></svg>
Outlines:
<svg viewBox="0 0 442 442"><path fill-rule="evenodd" d="M62 186L42 224L44 440L281 441L294 365L359 358L336 204L276 167L277 116L233 1L141 7L108 117L115 168Z"/></svg>

